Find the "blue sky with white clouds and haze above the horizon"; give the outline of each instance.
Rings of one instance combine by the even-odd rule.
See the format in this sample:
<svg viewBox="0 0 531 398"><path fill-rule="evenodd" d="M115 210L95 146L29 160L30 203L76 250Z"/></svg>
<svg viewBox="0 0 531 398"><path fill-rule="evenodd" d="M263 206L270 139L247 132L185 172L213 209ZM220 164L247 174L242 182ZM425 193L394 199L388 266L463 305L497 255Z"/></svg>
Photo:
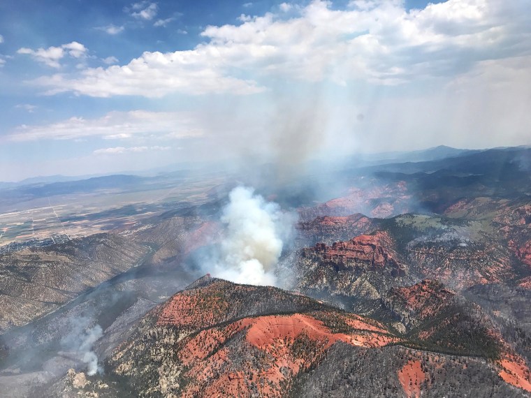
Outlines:
<svg viewBox="0 0 531 398"><path fill-rule="evenodd" d="M0 181L531 144L529 0L0 2Z"/></svg>

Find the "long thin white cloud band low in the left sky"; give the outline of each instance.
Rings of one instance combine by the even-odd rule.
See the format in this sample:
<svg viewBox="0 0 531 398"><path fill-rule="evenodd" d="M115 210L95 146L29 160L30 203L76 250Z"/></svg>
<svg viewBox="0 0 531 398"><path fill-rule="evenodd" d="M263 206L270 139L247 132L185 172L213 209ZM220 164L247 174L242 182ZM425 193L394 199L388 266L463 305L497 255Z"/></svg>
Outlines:
<svg viewBox="0 0 531 398"><path fill-rule="evenodd" d="M109 112L97 119L71 117L44 126L22 125L8 135L11 141L73 140L89 136L125 139L149 136L175 139L202 135L192 115L185 112Z"/></svg>

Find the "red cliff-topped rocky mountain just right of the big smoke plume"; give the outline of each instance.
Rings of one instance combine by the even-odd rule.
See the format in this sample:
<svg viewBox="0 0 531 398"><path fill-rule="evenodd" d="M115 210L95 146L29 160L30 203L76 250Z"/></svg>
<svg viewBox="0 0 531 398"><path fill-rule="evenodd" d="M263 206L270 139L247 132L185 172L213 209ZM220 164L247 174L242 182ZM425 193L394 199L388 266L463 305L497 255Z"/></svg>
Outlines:
<svg viewBox="0 0 531 398"><path fill-rule="evenodd" d="M301 249L285 258L283 266L292 272L291 288L365 311L392 286L418 280L395 249L391 235L380 230L347 242Z"/></svg>

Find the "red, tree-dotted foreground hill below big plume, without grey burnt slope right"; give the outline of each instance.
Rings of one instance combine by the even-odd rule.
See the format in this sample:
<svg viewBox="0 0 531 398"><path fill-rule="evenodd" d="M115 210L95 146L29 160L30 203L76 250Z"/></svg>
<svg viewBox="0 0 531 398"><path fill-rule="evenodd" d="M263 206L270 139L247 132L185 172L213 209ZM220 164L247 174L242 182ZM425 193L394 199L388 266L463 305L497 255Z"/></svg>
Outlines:
<svg viewBox="0 0 531 398"><path fill-rule="evenodd" d="M399 339L308 297L205 278L147 314L106 370L139 396L281 397L337 341Z"/></svg>

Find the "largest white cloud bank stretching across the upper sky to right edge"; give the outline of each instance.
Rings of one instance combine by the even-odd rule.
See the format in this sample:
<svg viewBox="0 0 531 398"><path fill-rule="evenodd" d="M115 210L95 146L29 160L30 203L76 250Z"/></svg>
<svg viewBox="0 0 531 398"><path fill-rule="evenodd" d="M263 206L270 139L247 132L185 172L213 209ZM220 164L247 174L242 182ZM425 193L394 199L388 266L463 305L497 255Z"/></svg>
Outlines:
<svg viewBox="0 0 531 398"><path fill-rule="evenodd" d="M136 3L139 13L152 4ZM280 6L287 9L289 6ZM344 10L314 0L296 15L242 15L207 27L193 50L144 52L124 66L36 80L48 94L163 96L172 92L253 94L269 78L395 85L447 78L488 59L531 51L525 3L449 0L405 10L402 0L352 1Z"/></svg>

